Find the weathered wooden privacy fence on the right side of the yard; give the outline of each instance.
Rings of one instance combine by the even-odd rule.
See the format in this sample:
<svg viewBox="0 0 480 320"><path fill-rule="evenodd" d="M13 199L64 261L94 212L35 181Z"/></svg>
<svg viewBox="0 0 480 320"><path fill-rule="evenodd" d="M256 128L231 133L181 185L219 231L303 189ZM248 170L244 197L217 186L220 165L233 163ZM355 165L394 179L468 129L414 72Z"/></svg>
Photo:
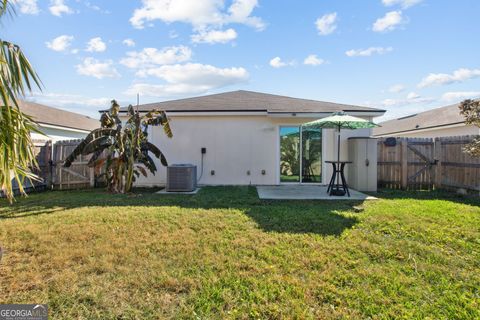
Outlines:
<svg viewBox="0 0 480 320"><path fill-rule="evenodd" d="M378 186L480 191L480 158L463 152L473 138L378 139Z"/></svg>

